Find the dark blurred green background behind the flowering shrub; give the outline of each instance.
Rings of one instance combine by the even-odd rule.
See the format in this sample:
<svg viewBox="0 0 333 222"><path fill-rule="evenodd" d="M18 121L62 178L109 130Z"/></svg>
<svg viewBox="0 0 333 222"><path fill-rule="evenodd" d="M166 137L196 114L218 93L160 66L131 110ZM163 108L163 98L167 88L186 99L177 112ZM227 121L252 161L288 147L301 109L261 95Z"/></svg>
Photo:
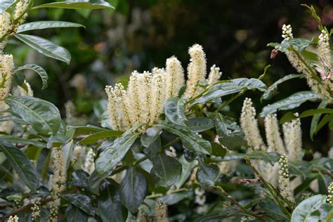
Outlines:
<svg viewBox="0 0 333 222"><path fill-rule="evenodd" d="M49 9L30 13L28 22L63 20L78 22L84 28L40 30L32 32L67 48L72 54L70 65L46 58L28 46L11 42L6 51L15 55L17 65L36 63L48 72L48 89L41 91L36 74L26 73L34 95L55 103L65 117L65 103L71 100L77 109L79 124L97 124L96 116L105 109L106 84L126 84L133 70L143 72L164 67L166 58L176 55L186 68L188 47L202 44L207 54L207 68L221 67L223 79L259 77L270 64L263 81L272 84L296 70L285 55L270 60L266 44L281 41L281 27L291 24L294 37L318 34L317 23L301 4L313 4L329 29L333 24L333 8L329 0L109 0L115 11ZM35 5L50 2L35 0ZM296 91L309 90L306 81L294 79L282 84L280 94L260 103L260 94L252 97L259 112L263 105L285 98ZM243 98L232 103L230 115L239 117ZM314 108L306 103L297 111ZM281 116L283 112L279 113ZM311 118L302 119L306 158L313 152L326 155L332 146L332 135L326 127L310 143ZM315 146L313 145L315 144Z"/></svg>

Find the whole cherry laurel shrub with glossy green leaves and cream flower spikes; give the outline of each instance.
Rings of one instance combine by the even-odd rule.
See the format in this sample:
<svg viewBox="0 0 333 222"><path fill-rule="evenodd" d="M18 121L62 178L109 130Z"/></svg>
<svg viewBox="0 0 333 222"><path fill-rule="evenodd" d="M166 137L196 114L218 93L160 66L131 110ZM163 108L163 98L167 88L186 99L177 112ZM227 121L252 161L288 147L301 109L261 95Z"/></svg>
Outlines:
<svg viewBox="0 0 333 222"><path fill-rule="evenodd" d="M133 71L128 86L105 86L107 108L100 126L79 122L66 103L58 108L33 96L21 70L34 70L43 88L48 75L39 65L15 66L4 53L11 38L48 57L70 63L70 53L47 39L22 34L77 23L25 23L39 8L113 8L105 1L66 1L34 6L7 0L0 6L0 217L1 221L331 221L333 150L304 161L301 119L313 117L311 138L332 120L332 63L326 27L313 39L294 38L283 25L272 57L285 53L299 74L271 86L258 79L219 81L221 72L199 44L188 50L185 70L171 56L165 67ZM187 77L185 80L185 76ZM306 78L309 90L263 107L243 101L240 119L228 108L247 91L266 102L278 84ZM318 108L291 110L306 101ZM264 119L264 131L258 118ZM77 125L77 124L75 124Z"/></svg>

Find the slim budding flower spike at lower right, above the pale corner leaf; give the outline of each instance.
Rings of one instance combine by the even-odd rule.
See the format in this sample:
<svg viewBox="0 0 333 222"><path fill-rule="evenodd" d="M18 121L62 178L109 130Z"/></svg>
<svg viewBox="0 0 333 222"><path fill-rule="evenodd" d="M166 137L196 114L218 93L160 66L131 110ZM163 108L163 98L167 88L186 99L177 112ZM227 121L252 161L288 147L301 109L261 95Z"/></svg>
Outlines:
<svg viewBox="0 0 333 222"><path fill-rule="evenodd" d="M293 203L295 202L294 193L291 190L291 183L289 181L288 159L286 155L282 155L279 160L279 190L282 197Z"/></svg>

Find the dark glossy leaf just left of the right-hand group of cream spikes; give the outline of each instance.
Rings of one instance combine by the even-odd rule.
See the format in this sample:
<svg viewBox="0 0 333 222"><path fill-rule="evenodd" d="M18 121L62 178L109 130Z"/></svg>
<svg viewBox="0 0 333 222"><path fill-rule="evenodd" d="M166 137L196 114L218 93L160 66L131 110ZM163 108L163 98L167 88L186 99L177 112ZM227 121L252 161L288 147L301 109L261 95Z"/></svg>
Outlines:
<svg viewBox="0 0 333 222"><path fill-rule="evenodd" d="M215 118L215 127L219 136L218 141L229 150L236 150L247 145L242 129L232 119L218 113Z"/></svg>

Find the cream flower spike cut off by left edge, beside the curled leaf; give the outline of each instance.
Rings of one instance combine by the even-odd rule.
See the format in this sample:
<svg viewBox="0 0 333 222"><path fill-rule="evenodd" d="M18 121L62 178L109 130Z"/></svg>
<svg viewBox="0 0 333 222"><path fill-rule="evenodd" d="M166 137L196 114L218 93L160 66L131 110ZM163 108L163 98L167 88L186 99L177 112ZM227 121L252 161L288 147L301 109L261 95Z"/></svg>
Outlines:
<svg viewBox="0 0 333 222"><path fill-rule="evenodd" d="M4 100L11 90L13 68L13 55L0 53L0 100Z"/></svg>

